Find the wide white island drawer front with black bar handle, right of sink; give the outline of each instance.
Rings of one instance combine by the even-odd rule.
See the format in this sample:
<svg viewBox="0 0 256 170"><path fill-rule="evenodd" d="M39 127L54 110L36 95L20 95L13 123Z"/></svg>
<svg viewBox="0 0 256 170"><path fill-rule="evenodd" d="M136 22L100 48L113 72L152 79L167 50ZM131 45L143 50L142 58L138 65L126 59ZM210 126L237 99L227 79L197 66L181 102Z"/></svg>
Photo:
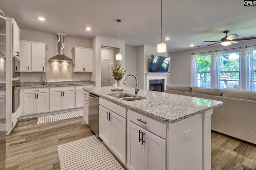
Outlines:
<svg viewBox="0 0 256 170"><path fill-rule="evenodd" d="M166 122L158 121L131 109L127 110L127 119L136 125L139 125L143 129L146 129L155 135L166 139ZM146 123L142 123L141 121Z"/></svg>

